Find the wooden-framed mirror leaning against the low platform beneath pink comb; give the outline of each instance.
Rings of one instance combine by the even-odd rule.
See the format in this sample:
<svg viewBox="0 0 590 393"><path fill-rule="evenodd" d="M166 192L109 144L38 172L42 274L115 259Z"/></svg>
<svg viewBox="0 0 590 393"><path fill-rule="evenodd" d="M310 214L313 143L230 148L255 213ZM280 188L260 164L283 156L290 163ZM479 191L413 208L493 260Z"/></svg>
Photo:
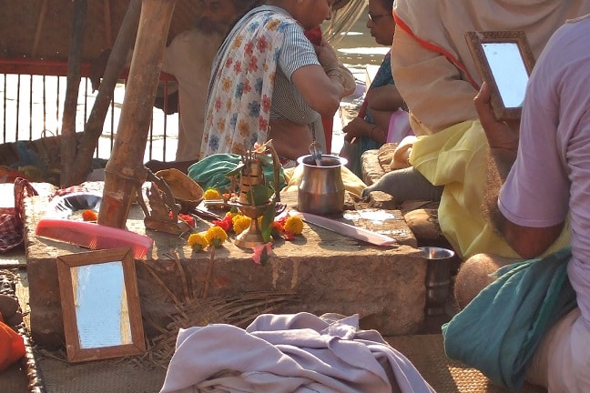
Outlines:
<svg viewBox="0 0 590 393"><path fill-rule="evenodd" d="M145 352L131 248L57 257L57 277L69 361Z"/></svg>

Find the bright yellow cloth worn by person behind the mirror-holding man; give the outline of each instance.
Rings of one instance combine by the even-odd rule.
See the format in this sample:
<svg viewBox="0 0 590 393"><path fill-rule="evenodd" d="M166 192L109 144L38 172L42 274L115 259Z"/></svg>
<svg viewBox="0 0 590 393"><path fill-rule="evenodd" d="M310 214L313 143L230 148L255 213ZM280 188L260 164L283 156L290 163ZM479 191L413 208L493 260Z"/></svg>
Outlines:
<svg viewBox="0 0 590 393"><path fill-rule="evenodd" d="M469 120L420 136L412 146L410 162L433 185L444 186L439 223L442 234L461 257L492 253L519 258L483 217L486 150L487 139L479 120ZM564 230L547 253L568 243L569 231Z"/></svg>

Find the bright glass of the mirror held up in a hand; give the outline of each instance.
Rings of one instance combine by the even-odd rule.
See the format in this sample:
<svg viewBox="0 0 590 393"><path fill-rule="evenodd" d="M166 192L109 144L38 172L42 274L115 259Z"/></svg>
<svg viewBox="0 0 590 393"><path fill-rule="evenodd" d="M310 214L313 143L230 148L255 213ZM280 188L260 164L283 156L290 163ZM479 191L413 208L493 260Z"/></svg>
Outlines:
<svg viewBox="0 0 590 393"><path fill-rule="evenodd" d="M522 107L528 73L518 45L508 42L482 45L504 106Z"/></svg>

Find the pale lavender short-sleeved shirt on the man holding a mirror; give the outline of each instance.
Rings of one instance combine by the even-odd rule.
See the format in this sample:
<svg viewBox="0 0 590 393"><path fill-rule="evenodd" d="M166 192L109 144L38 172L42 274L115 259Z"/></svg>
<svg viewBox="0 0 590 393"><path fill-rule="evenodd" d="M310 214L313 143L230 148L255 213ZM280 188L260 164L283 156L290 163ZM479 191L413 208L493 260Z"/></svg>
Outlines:
<svg viewBox="0 0 590 393"><path fill-rule="evenodd" d="M571 215L568 276L590 328L590 16L566 23L534 66L520 146L501 190L504 216L551 227Z"/></svg>

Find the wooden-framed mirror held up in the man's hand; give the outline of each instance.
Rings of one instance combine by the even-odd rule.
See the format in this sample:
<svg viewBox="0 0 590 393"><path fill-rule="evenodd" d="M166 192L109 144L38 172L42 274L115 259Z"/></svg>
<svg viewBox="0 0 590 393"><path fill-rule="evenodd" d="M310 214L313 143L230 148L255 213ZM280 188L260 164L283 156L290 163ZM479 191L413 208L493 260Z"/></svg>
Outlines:
<svg viewBox="0 0 590 393"><path fill-rule="evenodd" d="M467 32L467 45L492 91L498 120L519 119L534 55L523 31Z"/></svg>

